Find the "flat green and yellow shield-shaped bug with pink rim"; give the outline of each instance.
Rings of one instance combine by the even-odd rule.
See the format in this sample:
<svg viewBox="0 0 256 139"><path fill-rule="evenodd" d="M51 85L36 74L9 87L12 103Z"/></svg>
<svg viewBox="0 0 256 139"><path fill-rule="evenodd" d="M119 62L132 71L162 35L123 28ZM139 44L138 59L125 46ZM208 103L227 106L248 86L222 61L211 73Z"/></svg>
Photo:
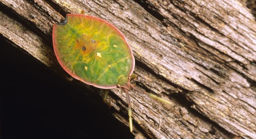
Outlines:
<svg viewBox="0 0 256 139"><path fill-rule="evenodd" d="M89 15L67 14L63 23L55 23L52 31L53 48L62 68L73 78L88 85L106 89L122 88L128 103L129 126L132 132L132 110L129 89L149 95L165 103L169 101L147 93L130 83L135 61L124 35L111 23Z"/></svg>

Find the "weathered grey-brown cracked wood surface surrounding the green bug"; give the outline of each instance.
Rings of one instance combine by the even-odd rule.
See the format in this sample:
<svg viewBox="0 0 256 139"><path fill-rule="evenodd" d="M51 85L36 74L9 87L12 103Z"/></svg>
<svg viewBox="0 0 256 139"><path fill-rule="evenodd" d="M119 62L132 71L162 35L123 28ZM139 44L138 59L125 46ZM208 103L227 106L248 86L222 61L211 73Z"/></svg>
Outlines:
<svg viewBox="0 0 256 139"><path fill-rule="evenodd" d="M102 89L70 77L52 48L52 27L80 13L115 25L131 44L136 139L256 139L256 23L242 0L0 0L1 37L88 95ZM125 93L111 89L112 117L127 126Z"/></svg>

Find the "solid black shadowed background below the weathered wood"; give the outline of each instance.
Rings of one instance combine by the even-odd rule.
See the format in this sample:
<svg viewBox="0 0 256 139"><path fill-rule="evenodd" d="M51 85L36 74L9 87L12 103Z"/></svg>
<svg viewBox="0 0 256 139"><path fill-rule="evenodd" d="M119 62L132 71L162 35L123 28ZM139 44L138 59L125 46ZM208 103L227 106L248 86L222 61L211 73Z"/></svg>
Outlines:
<svg viewBox="0 0 256 139"><path fill-rule="evenodd" d="M134 138L47 67L1 42L1 139ZM101 102L100 102L101 103Z"/></svg>

